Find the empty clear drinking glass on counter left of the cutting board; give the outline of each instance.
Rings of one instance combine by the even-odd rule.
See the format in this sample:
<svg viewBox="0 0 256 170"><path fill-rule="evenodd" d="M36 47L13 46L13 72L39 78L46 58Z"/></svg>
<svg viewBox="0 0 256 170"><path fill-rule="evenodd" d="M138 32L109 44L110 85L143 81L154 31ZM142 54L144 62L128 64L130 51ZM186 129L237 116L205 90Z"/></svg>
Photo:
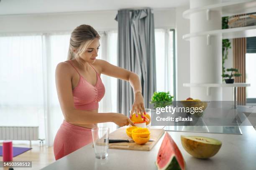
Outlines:
<svg viewBox="0 0 256 170"><path fill-rule="evenodd" d="M107 127L92 128L93 147L94 147L96 158L104 159L108 156L108 137L109 137L109 128Z"/></svg>

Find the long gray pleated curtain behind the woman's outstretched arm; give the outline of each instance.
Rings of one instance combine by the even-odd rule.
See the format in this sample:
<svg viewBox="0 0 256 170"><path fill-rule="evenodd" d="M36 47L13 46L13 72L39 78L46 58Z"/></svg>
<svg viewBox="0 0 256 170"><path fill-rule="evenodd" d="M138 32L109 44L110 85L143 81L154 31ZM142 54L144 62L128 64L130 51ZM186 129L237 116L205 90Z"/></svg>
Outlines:
<svg viewBox="0 0 256 170"><path fill-rule="evenodd" d="M145 108L153 108L156 91L156 54L154 15L151 9L118 10L118 66L139 75ZM133 105L129 82L118 80L117 111L129 115Z"/></svg>

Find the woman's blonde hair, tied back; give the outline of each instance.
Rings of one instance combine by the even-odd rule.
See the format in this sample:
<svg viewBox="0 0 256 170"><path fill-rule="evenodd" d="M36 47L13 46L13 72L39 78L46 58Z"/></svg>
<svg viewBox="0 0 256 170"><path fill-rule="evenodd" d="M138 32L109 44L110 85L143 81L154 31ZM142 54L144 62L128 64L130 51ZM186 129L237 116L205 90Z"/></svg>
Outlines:
<svg viewBox="0 0 256 170"><path fill-rule="evenodd" d="M95 38L100 39L100 35L92 26L84 24L75 28L71 33L67 60L84 53ZM76 52L74 53L73 50Z"/></svg>

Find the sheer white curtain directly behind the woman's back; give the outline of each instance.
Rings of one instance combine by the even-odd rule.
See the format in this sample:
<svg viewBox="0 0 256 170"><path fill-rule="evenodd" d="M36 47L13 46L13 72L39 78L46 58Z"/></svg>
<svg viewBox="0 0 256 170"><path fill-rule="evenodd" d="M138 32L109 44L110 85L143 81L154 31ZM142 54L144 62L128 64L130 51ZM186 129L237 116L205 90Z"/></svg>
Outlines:
<svg viewBox="0 0 256 170"><path fill-rule="evenodd" d="M52 146L54 137L64 120L56 92L55 69L59 62L67 60L70 34L44 34L44 106L46 144Z"/></svg>

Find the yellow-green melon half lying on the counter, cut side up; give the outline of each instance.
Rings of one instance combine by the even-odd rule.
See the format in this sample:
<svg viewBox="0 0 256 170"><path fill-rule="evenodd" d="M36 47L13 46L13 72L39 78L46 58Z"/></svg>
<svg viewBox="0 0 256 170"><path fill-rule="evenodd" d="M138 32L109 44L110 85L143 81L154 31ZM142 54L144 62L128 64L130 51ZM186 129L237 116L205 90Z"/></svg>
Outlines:
<svg viewBox="0 0 256 170"><path fill-rule="evenodd" d="M195 158L207 159L220 150L222 143L202 136L181 136L183 148Z"/></svg>

